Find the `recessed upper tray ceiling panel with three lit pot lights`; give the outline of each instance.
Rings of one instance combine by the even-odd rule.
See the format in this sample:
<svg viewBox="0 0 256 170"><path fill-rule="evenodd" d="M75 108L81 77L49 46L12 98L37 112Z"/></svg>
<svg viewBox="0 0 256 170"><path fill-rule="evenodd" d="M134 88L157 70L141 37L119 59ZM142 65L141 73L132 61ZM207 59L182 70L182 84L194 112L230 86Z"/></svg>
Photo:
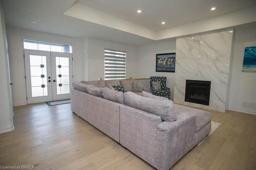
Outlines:
<svg viewBox="0 0 256 170"><path fill-rule="evenodd" d="M256 5L255 0L77 0L151 30L161 30ZM215 11L210 11L216 7ZM140 9L142 12L137 13ZM165 21L165 25L161 25Z"/></svg>

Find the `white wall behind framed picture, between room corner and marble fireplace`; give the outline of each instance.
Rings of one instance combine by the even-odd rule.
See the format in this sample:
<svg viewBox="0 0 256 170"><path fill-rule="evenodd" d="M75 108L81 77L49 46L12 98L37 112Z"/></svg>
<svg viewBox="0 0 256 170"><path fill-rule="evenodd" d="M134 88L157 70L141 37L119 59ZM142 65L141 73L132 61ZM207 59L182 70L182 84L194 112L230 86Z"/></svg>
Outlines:
<svg viewBox="0 0 256 170"><path fill-rule="evenodd" d="M138 78L149 78L151 76L165 76L167 78L167 87L172 91L174 96L174 72L156 72L156 54L175 53L176 40L149 44L138 47L137 53L137 76Z"/></svg>

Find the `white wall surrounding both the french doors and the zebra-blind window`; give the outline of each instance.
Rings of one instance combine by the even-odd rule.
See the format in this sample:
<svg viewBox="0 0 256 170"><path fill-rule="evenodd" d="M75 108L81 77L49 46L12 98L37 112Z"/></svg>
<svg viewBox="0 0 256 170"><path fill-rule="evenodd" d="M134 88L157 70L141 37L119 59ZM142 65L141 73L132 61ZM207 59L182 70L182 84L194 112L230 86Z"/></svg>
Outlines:
<svg viewBox="0 0 256 170"><path fill-rule="evenodd" d="M7 28L7 34L14 106L27 104L23 57L24 38L72 45L74 81L98 80L98 78L104 78L104 48L126 51L126 76L129 78L136 77L137 75L136 46L93 38L84 38L81 40L10 27ZM86 50L86 54L84 53L84 50Z"/></svg>

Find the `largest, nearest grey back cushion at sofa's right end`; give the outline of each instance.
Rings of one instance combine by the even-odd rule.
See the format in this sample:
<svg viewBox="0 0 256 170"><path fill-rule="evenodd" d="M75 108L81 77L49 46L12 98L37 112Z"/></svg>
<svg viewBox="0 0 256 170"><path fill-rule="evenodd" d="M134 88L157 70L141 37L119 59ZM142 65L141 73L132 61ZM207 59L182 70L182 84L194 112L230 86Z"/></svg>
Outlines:
<svg viewBox="0 0 256 170"><path fill-rule="evenodd" d="M176 120L174 104L171 100L146 98L129 91L124 93L124 103L127 106L159 115L162 120L168 122Z"/></svg>

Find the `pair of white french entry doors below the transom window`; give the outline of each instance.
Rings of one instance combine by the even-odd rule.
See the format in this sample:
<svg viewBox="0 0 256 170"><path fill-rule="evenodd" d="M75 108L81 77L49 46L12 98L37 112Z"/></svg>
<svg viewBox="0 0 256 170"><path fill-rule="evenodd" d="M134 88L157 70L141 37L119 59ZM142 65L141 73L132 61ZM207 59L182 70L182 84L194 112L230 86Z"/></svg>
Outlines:
<svg viewBox="0 0 256 170"><path fill-rule="evenodd" d="M70 99L72 54L34 50L24 54L28 104Z"/></svg>

